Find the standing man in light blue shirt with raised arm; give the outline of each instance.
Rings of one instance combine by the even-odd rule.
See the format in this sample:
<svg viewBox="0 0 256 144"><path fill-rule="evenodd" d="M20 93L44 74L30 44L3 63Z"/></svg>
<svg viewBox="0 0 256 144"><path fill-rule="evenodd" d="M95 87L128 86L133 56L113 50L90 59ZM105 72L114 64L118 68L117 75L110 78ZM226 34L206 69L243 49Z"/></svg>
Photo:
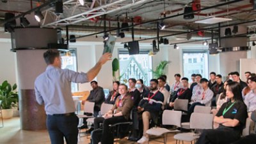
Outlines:
<svg viewBox="0 0 256 144"><path fill-rule="evenodd" d="M61 69L61 57L58 50L47 50L44 59L47 68L35 80L35 94L38 104L45 105L47 114L47 130L52 144L77 143L78 118L71 94L71 82L90 82L97 76L103 64L111 58L106 53L88 73L77 73L69 69Z"/></svg>

